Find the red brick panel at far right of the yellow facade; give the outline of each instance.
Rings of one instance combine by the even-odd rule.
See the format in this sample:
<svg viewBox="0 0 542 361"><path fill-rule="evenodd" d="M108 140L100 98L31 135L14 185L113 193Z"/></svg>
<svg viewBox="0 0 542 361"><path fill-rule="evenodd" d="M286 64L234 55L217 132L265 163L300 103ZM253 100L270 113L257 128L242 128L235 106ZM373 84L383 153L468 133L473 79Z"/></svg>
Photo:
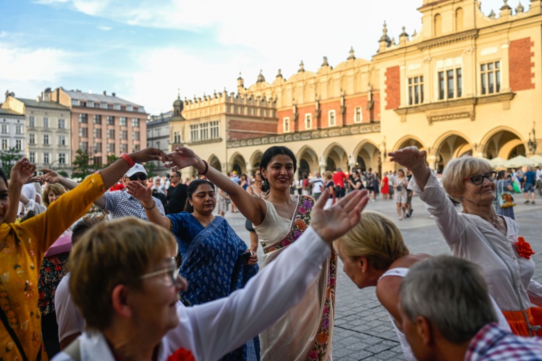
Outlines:
<svg viewBox="0 0 542 361"><path fill-rule="evenodd" d="M508 48L509 81L513 92L518 90L534 89L532 56L534 56L534 42L531 38L523 38L510 42Z"/></svg>

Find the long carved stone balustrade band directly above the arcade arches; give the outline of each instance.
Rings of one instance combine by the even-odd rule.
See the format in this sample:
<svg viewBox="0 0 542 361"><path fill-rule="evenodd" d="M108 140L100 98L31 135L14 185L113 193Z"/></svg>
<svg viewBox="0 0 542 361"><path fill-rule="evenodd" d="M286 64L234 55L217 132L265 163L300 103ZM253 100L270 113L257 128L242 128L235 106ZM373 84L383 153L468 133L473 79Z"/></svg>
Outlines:
<svg viewBox="0 0 542 361"><path fill-rule="evenodd" d="M247 147L251 145L272 145L295 141L309 141L311 139L331 138L336 136L352 136L356 134L377 133L380 131L380 122L366 124L347 125L318 130L296 131L295 133L278 134L261 138L243 139L241 141L229 141L228 148Z"/></svg>

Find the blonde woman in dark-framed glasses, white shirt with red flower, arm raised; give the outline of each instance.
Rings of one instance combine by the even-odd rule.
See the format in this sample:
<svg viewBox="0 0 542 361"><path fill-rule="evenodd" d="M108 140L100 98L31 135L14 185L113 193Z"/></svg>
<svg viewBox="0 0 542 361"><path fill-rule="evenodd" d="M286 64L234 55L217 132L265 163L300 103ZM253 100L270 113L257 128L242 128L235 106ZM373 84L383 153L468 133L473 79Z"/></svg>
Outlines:
<svg viewBox="0 0 542 361"><path fill-rule="evenodd" d="M534 262L518 224L493 208L495 172L483 159L460 157L444 168L442 187L425 165L425 150L406 147L389 155L409 168L409 188L427 204L457 257L478 264L493 296L517 335L535 335L542 325L542 285L532 280ZM461 202L458 214L450 197ZM532 307L532 304L538 307ZM541 334L542 335L542 334Z"/></svg>

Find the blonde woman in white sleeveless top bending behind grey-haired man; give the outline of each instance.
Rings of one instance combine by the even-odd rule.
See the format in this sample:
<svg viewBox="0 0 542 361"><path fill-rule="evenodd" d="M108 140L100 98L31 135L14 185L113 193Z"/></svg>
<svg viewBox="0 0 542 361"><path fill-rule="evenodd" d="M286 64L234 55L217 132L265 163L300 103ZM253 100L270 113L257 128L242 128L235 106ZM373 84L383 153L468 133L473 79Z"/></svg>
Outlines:
<svg viewBox="0 0 542 361"><path fill-rule="evenodd" d="M405 358L415 361L404 337L402 319L397 309L399 287L411 266L431 256L411 254L397 226L376 211L364 211L359 223L334 242L334 248L343 260L346 275L357 287L376 287L377 298L388 311ZM506 319L494 301L493 307L499 315L500 326L509 330Z"/></svg>

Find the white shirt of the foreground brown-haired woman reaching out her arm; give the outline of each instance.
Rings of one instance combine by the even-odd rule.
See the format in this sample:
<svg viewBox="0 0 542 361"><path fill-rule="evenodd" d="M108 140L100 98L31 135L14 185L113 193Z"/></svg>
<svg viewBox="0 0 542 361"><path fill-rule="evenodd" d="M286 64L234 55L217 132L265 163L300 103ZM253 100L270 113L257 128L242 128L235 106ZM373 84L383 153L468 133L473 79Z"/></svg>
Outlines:
<svg viewBox="0 0 542 361"><path fill-rule="evenodd" d="M192 351L196 360L213 361L245 344L299 303L328 256L329 245L309 227L245 288L193 307L177 302L179 325L163 337L158 360L182 347ZM81 361L115 360L101 333L85 332L79 339ZM60 352L53 360L72 358Z"/></svg>

